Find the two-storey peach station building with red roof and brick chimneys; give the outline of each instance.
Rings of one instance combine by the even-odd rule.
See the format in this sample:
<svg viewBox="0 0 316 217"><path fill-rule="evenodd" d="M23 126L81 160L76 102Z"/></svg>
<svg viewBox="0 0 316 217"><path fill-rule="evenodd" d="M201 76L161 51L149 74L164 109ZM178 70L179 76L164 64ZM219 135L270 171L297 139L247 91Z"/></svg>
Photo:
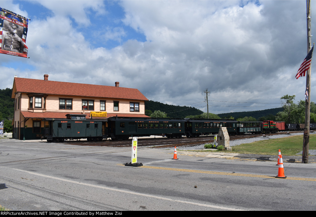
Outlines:
<svg viewBox="0 0 316 217"><path fill-rule="evenodd" d="M49 81L48 75L43 80L15 77L11 98L15 99L15 139L40 139L45 118L66 118L66 114L86 114L86 119L95 118L92 113L102 113L97 119L149 117L145 115L148 99L138 89L119 87L119 82L103 86Z"/></svg>

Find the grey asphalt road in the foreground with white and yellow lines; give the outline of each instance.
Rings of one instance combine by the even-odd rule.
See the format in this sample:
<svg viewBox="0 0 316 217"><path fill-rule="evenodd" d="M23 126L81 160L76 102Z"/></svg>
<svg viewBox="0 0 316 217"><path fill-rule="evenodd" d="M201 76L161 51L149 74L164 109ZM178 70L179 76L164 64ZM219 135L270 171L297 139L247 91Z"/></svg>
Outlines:
<svg viewBox="0 0 316 217"><path fill-rule="evenodd" d="M190 156L191 155L191 156ZM194 155L194 156L193 156ZM173 150L0 140L0 204L10 210L316 210L316 164ZM195 187L196 186L196 187Z"/></svg>

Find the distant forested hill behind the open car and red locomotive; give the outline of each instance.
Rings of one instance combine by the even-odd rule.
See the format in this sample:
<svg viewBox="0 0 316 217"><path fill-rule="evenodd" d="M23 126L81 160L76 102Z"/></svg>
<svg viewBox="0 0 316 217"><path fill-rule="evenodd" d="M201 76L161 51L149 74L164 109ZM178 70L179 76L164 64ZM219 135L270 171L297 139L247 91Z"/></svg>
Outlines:
<svg viewBox="0 0 316 217"><path fill-rule="evenodd" d="M276 113L278 112L283 112L283 108L265 109L265 110L252 111L252 112L230 112L230 113L218 114L218 116L221 118L234 117L235 119L244 118L244 117L252 117L258 120L259 118L263 116L276 115Z"/></svg>

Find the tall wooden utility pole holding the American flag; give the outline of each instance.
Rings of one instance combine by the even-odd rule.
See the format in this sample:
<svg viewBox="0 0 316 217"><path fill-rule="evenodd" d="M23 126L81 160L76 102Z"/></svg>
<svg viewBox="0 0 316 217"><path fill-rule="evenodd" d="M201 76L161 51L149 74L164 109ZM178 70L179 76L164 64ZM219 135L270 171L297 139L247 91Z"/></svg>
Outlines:
<svg viewBox="0 0 316 217"><path fill-rule="evenodd" d="M311 39L311 3L306 0L306 15L307 15L307 54L312 48ZM306 97L305 97L305 130L303 137L303 154L302 163L308 163L308 147L309 147L309 121L310 121L310 102L311 102L311 66L307 70L306 76Z"/></svg>

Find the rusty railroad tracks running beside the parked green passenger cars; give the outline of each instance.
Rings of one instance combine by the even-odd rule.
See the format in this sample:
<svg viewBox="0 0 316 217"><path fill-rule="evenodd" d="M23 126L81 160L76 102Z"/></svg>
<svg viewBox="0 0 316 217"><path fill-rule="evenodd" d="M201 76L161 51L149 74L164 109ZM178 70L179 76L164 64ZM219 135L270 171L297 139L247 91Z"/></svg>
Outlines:
<svg viewBox="0 0 316 217"><path fill-rule="evenodd" d="M299 133L301 131L289 131L291 133ZM246 135L236 135L236 136L229 136L230 140L237 140L237 139L246 139L246 138L254 138L260 136L272 136L272 135L279 135L279 134L288 134L288 132L279 132L279 133L270 133L270 134L246 134ZM147 147L147 148L170 148L170 147L180 147L180 146L195 146L201 145L206 143L213 143L214 142L214 135L210 136L199 136L194 138L177 138L177 139L168 139L168 138L151 138L151 139L143 139L139 138L137 141L138 147ZM64 144L69 145L80 145L80 146L102 146L102 147L130 147L131 140L103 140L99 142L87 142L87 141L67 141L63 142Z"/></svg>

